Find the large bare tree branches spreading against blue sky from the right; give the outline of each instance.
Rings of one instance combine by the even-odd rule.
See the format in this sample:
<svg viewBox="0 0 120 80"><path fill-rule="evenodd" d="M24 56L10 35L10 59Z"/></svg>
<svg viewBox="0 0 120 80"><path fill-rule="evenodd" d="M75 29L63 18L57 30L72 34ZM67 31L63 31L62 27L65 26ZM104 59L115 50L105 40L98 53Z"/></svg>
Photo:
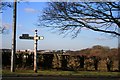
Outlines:
<svg viewBox="0 0 120 80"><path fill-rule="evenodd" d="M58 29L65 35L70 33L73 38L82 28L119 37L119 10L119 2L49 2L38 26Z"/></svg>

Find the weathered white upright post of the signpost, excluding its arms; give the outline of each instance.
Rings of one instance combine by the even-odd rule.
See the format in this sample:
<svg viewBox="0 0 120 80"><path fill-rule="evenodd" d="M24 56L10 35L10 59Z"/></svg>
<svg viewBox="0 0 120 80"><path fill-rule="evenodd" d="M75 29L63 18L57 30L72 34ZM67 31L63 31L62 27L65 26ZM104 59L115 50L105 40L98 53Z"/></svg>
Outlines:
<svg viewBox="0 0 120 80"><path fill-rule="evenodd" d="M37 73L37 30L35 30L35 35L34 35L34 72Z"/></svg>

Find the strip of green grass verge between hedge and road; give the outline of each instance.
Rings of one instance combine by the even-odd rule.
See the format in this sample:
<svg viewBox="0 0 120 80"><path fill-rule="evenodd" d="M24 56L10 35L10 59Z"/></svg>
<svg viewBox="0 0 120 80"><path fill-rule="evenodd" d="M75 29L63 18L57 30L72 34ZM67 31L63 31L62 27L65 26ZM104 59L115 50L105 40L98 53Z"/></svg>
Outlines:
<svg viewBox="0 0 120 80"><path fill-rule="evenodd" d="M3 70L2 75L118 76L120 72L38 70L38 73L34 73L33 70L16 70L16 72L11 73L10 70Z"/></svg>

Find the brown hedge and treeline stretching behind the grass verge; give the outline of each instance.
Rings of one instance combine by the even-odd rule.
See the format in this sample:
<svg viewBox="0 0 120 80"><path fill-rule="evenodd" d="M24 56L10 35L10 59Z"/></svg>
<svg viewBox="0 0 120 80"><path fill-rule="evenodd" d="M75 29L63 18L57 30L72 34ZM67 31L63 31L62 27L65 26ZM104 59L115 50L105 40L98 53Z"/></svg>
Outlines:
<svg viewBox="0 0 120 80"><path fill-rule="evenodd" d="M38 53L38 69L56 70L118 70L118 50L104 46L93 46L80 51L53 51ZM16 69L33 69L33 53L17 52ZM2 53L3 69L9 69L11 52Z"/></svg>

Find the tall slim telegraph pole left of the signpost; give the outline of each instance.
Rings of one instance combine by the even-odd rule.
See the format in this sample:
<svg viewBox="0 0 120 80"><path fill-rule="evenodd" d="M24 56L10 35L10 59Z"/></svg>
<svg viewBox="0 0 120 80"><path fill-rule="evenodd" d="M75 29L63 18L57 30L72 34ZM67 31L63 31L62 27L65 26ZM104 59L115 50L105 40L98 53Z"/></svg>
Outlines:
<svg viewBox="0 0 120 80"><path fill-rule="evenodd" d="M14 10L13 10L13 26L12 26L11 72L15 72L17 0L14 0L13 3L14 3Z"/></svg>

